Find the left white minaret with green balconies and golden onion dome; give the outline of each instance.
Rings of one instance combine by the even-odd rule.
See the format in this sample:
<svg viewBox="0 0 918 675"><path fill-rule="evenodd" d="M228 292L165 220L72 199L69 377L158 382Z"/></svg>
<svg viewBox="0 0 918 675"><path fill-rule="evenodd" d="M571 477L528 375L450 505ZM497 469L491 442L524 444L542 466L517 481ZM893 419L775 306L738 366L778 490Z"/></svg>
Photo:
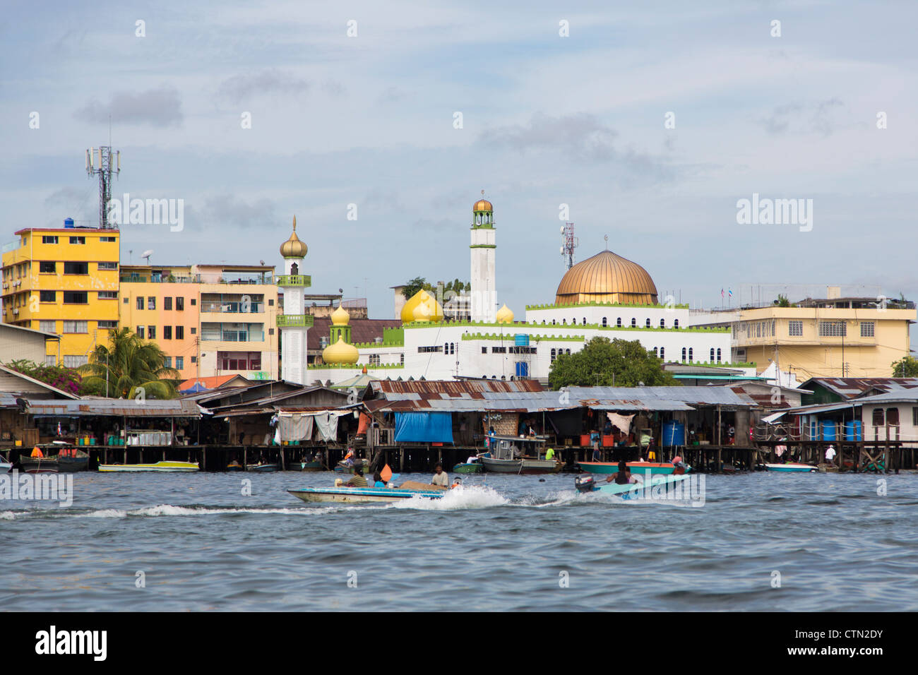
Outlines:
<svg viewBox="0 0 918 675"><path fill-rule="evenodd" d="M297 217L293 217L293 233L281 244L284 275L277 277L277 286L284 291L284 313L277 315L281 332L281 378L297 384L307 384L306 337L312 326L312 315L306 313L306 289L312 278L302 274L303 258L308 247L297 237Z"/></svg>

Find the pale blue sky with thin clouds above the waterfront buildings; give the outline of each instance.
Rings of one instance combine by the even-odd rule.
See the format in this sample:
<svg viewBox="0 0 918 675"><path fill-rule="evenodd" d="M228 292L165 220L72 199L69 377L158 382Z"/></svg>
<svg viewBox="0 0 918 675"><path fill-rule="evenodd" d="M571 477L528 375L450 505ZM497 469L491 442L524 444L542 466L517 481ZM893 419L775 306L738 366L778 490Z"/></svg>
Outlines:
<svg viewBox="0 0 918 675"><path fill-rule="evenodd" d="M577 261L608 236L693 308L918 298L913 2L14 1L0 21L3 242L97 222L85 149L110 133L113 196L185 209L181 231L122 226L123 264L280 267L296 215L312 290L373 318L411 277L468 279L483 189L518 318L565 272L562 205ZM754 194L812 223L738 223Z"/></svg>

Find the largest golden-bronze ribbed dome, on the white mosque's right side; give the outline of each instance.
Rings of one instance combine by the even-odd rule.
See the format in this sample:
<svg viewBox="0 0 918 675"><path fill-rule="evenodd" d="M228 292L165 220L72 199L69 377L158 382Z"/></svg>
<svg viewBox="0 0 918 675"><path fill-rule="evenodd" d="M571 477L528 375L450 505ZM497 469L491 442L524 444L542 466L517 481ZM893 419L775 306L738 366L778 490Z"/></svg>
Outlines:
<svg viewBox="0 0 918 675"><path fill-rule="evenodd" d="M558 284L554 304L581 302L655 305L656 287L644 267L603 251L575 264Z"/></svg>

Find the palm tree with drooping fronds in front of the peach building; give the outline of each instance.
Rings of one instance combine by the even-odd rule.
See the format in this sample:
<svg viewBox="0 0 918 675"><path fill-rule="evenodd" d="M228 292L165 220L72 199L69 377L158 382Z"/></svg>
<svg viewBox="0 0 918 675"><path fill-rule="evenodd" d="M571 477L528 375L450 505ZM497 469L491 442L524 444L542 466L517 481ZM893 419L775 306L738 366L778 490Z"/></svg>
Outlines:
<svg viewBox="0 0 918 675"><path fill-rule="evenodd" d="M129 328L119 328L108 336L108 344L96 345L89 363L80 366L87 386L105 389L109 397L130 399L138 388L151 399L174 399L175 383L181 373L164 366L165 354L157 343L144 342Z"/></svg>

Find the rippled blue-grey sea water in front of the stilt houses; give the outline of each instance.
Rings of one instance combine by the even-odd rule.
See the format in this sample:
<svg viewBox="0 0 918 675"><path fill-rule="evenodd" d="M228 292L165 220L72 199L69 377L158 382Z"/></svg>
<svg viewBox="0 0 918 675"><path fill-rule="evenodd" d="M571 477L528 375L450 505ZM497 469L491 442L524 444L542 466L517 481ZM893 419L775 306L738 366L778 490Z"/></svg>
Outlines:
<svg viewBox="0 0 918 675"><path fill-rule="evenodd" d="M700 508L563 474L397 505L286 492L338 476L81 473L69 508L0 501L0 609L918 610L913 472L885 496L869 475L708 476Z"/></svg>

